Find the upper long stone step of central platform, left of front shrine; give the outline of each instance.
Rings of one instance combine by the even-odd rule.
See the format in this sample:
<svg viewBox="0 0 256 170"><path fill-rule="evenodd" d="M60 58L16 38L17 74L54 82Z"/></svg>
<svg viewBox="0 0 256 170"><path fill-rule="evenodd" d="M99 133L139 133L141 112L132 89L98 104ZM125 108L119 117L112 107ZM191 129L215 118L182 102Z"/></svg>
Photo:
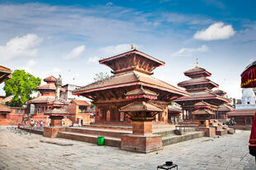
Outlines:
<svg viewBox="0 0 256 170"><path fill-rule="evenodd" d="M85 128L85 127L67 127L65 131L73 133L81 133L94 136L109 136L114 138L121 138L121 135L131 134L131 131L121 131L112 129L102 129L102 128Z"/></svg>

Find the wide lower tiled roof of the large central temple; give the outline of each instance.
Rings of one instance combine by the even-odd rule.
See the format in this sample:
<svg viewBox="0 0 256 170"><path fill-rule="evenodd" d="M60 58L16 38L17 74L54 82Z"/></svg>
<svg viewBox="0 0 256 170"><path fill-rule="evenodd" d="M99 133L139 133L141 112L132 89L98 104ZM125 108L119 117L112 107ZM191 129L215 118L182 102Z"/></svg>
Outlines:
<svg viewBox="0 0 256 170"><path fill-rule="evenodd" d="M90 85L86 85L78 90L74 90L73 94L84 95L89 99L110 99L111 97L118 98L120 95L126 93L126 91L122 91L121 94L112 94L113 96L97 96L97 94L93 92L99 90L121 89L123 87L134 85L143 85L149 88L150 90L154 89L157 91L165 91L167 95L159 96L160 98L171 99L173 97L173 94L175 94L176 98L181 97L183 95L189 95L183 90L174 87L173 85L169 85L168 83L165 83L162 80L155 79L154 77L143 74L139 71L130 71L126 72L126 74L111 76L110 78L107 78L105 80L99 80ZM116 91L116 93L118 92Z"/></svg>

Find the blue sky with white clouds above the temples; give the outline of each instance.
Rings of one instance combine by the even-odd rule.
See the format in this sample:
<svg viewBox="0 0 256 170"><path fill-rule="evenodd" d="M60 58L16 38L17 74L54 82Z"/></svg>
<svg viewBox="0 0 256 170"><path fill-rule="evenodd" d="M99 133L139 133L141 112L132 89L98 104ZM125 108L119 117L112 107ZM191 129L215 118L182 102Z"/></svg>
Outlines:
<svg viewBox="0 0 256 170"><path fill-rule="evenodd" d="M177 85L198 58L220 90L240 98L240 74L256 58L255 3L0 0L0 62L42 79L61 74L64 83L87 85L96 73L111 71L98 59L135 44L166 62L154 77Z"/></svg>

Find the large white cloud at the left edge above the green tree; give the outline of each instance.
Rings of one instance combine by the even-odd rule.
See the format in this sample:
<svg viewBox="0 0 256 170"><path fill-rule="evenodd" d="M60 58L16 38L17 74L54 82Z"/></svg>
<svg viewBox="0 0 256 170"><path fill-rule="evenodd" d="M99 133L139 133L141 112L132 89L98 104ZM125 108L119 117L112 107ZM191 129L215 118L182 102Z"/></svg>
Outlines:
<svg viewBox="0 0 256 170"><path fill-rule="evenodd" d="M9 60L16 57L36 57L37 48L42 39L36 34L26 34L23 37L15 37L0 46L0 60Z"/></svg>

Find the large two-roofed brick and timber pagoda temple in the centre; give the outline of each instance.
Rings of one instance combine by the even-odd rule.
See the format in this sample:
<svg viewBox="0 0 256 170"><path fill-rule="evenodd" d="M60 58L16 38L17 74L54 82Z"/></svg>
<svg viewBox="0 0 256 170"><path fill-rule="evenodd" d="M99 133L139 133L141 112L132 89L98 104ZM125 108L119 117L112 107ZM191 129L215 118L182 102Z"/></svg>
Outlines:
<svg viewBox="0 0 256 170"><path fill-rule="evenodd" d="M143 86L144 90L158 94L157 99L148 101L150 104L157 104L163 110L154 117L154 122L167 123L168 104L173 99L188 95L187 92L151 76L156 67L164 66L165 63L135 48L102 59L99 63L111 67L114 76L73 91L73 94L92 99L92 103L96 105L96 123L131 124L130 115L119 110L134 101L126 98L126 93L138 90L140 86Z"/></svg>

